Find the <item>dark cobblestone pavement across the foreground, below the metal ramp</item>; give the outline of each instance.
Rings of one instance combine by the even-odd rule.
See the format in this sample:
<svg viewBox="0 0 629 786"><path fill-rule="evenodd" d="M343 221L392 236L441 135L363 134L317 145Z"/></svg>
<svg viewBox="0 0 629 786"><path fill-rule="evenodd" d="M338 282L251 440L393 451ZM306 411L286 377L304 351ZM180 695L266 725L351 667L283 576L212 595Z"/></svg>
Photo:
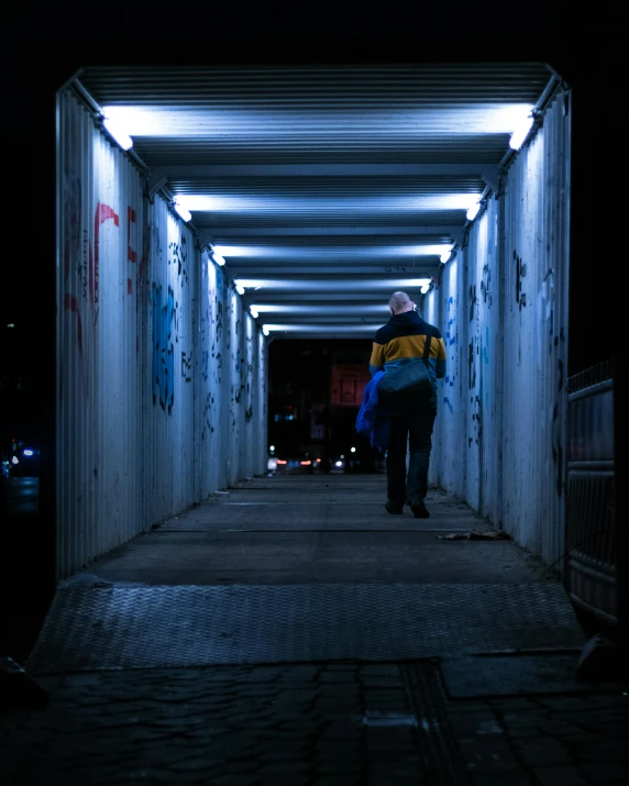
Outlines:
<svg viewBox="0 0 629 786"><path fill-rule="evenodd" d="M46 709L0 717L0 783L627 783L626 695L446 701L435 673L432 661L44 677Z"/></svg>

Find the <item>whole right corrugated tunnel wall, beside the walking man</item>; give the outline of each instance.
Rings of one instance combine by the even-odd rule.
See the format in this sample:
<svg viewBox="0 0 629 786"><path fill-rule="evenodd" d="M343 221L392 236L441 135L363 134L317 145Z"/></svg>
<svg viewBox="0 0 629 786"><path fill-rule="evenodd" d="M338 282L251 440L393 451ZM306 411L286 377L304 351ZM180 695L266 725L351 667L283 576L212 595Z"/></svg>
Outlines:
<svg viewBox="0 0 629 786"><path fill-rule="evenodd" d="M560 92L424 306L448 350L430 480L501 523L547 564L561 560L564 542L571 140L564 108Z"/></svg>

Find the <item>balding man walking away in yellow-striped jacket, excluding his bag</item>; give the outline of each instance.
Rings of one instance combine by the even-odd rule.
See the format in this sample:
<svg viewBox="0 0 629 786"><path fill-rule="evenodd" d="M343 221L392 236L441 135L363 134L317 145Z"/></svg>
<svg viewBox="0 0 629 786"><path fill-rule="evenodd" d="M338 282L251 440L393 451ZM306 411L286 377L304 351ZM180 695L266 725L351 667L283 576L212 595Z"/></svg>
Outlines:
<svg viewBox="0 0 629 786"><path fill-rule="evenodd" d="M437 391L437 379L445 376L445 345L441 333L421 319L406 292L394 292L390 296L389 310L391 318L377 331L374 339L369 361L372 376L378 370L386 374L398 367L400 361L423 357L427 336L430 336L428 372L433 390ZM423 500L428 492L428 465L435 417L437 392L418 407L391 418L386 458L388 499L385 506L389 513L401 513L406 502L416 519L430 516ZM408 477L407 442L410 450Z"/></svg>

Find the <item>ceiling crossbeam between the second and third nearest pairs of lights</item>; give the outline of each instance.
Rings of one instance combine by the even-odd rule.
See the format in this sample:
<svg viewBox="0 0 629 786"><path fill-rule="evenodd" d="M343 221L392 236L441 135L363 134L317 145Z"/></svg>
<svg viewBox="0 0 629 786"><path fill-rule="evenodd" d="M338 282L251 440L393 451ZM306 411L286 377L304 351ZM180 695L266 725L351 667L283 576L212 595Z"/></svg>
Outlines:
<svg viewBox="0 0 629 786"><path fill-rule="evenodd" d="M332 235L448 235L455 243L463 243L463 226L439 224L434 226L240 226L240 228L199 228L199 243L201 248L208 243L220 245L233 237L319 237Z"/></svg>

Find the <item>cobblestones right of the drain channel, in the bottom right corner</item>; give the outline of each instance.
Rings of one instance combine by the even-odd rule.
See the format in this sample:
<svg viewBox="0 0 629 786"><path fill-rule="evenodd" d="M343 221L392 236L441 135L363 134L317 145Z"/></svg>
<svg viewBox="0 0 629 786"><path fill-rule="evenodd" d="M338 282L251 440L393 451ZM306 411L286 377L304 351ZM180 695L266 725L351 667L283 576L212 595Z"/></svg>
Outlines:
<svg viewBox="0 0 629 786"><path fill-rule="evenodd" d="M629 783L627 693L455 701L448 716L473 786Z"/></svg>

